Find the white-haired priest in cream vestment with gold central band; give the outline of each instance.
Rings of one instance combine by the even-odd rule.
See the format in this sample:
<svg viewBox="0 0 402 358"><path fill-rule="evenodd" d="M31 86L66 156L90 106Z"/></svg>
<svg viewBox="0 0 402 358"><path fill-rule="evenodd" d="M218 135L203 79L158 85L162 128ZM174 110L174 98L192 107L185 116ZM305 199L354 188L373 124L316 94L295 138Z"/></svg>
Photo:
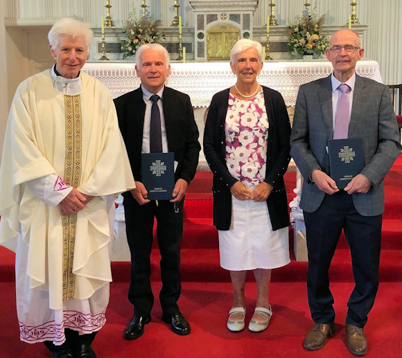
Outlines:
<svg viewBox="0 0 402 358"><path fill-rule="evenodd" d="M16 251L20 337L52 357L96 357L114 199L135 187L112 97L80 72L92 36L73 19L51 28L55 66L19 85L0 168L0 243Z"/></svg>

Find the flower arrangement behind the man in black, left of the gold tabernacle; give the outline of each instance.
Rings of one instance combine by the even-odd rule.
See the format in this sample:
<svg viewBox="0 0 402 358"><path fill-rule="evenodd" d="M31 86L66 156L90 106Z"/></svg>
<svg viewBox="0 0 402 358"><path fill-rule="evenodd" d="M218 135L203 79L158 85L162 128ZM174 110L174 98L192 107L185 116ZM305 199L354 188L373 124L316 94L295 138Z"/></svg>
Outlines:
<svg viewBox="0 0 402 358"><path fill-rule="evenodd" d="M165 39L165 35L159 33L158 27L161 26L161 20L154 20L149 13L146 16L136 17L135 9L128 15L128 20L125 21L125 39L121 40L121 49L123 60L134 56L139 46L143 44L157 43L161 39Z"/></svg>

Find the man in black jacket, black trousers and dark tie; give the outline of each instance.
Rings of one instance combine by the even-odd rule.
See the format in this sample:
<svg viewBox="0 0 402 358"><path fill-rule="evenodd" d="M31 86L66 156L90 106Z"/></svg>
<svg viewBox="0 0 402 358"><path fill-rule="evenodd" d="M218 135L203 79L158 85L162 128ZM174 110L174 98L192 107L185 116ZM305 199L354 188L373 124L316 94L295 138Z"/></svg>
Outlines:
<svg viewBox="0 0 402 358"><path fill-rule="evenodd" d="M177 306L177 300L181 291L180 242L184 195L195 175L200 152L198 127L189 96L165 87L171 69L166 49L159 44L141 46L137 51L135 69L141 78L141 87L114 100L136 184L136 188L123 193L126 233L131 252L128 299L134 305L134 316L123 332L124 339L129 340L140 337L144 325L150 322L154 301L150 286L150 253L155 217L161 253L162 288L159 300L163 310L162 319L170 323L171 330L177 334L186 335L191 331ZM175 154L172 200L150 201L146 187L141 183L141 153L149 153L150 147L155 145L153 134L150 133L151 117L155 118L155 105L152 109L154 102L160 119L160 128L159 125L157 127L161 132L161 152Z"/></svg>

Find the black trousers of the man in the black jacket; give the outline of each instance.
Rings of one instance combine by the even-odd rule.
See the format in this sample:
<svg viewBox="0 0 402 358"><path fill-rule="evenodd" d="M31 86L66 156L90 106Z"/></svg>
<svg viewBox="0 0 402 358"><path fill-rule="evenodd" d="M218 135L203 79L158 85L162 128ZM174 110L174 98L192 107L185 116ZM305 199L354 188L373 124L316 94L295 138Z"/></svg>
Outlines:
<svg viewBox="0 0 402 358"><path fill-rule="evenodd" d="M157 241L161 253L162 288L159 300L164 313L178 310L180 283L180 244L183 234L183 203L174 205L159 200L143 206L124 202L125 231L131 253L131 277L128 299L135 312L150 314L154 296L150 286L150 253L154 218L157 220ZM177 213L176 213L177 211Z"/></svg>

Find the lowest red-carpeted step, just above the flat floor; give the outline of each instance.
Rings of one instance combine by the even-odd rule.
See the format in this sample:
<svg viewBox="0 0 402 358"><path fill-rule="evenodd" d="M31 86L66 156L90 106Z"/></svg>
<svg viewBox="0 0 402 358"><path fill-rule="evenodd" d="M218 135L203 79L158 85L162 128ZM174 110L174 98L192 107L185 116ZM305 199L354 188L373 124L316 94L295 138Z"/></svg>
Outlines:
<svg viewBox="0 0 402 358"><path fill-rule="evenodd" d="M157 249L151 254L151 280L159 281L160 255ZM381 251L381 282L402 282L402 251ZM294 257L289 265L272 270L272 282L304 282L306 280L307 262L297 262ZM130 262L112 262L113 280L128 281ZM331 282L353 282L349 249L337 249L331 264ZM229 271L219 265L218 249L182 249L182 281L190 282L229 282ZM252 272L247 281L254 280Z"/></svg>

